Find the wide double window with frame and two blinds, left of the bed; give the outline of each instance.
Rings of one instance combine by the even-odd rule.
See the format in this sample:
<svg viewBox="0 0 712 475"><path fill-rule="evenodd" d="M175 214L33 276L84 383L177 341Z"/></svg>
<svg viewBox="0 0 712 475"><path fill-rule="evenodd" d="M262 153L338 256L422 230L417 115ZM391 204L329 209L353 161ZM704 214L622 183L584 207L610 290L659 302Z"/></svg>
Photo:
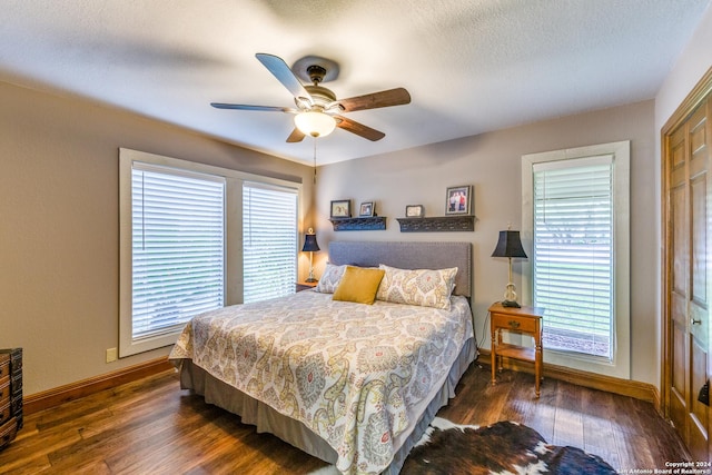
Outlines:
<svg viewBox="0 0 712 475"><path fill-rule="evenodd" d="M128 149L119 177L119 356L172 345L202 311L294 293L299 184Z"/></svg>

